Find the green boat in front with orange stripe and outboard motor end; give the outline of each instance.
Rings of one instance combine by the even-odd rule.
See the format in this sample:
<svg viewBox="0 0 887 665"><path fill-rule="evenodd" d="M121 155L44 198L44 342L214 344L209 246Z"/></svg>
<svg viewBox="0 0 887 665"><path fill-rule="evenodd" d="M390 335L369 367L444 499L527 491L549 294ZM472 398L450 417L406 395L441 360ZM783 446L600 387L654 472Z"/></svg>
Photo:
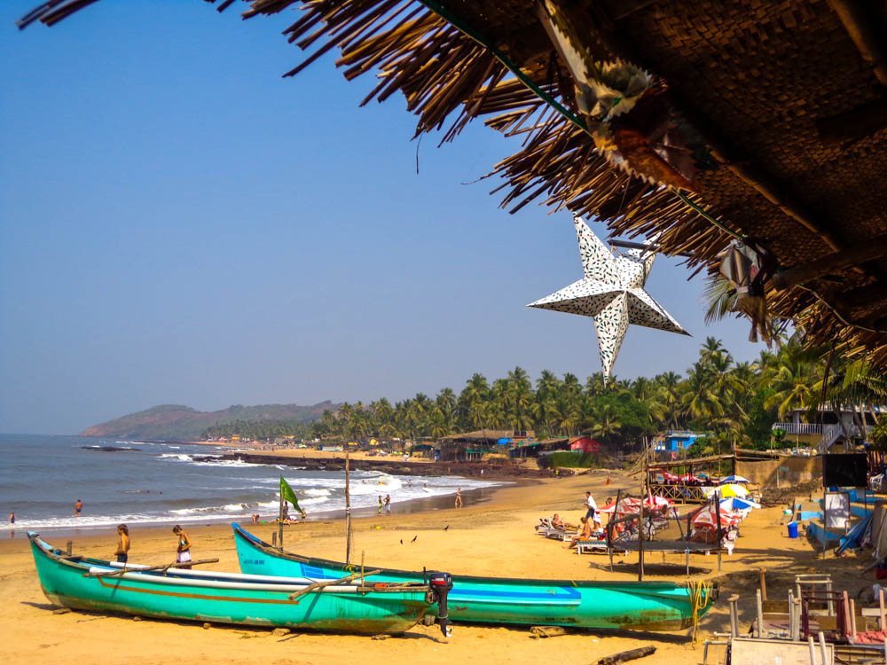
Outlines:
<svg viewBox="0 0 887 665"><path fill-rule="evenodd" d="M291 599L314 581L130 565L123 572L122 564L67 556L33 532L28 537L46 598L72 609L375 635L412 628L437 599L424 582L359 579Z"/></svg>

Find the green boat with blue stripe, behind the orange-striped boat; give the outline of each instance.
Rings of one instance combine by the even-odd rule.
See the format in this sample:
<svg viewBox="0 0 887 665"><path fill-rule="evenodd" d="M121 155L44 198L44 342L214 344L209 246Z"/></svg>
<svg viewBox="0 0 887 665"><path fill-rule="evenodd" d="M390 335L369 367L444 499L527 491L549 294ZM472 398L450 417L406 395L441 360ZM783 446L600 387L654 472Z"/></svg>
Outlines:
<svg viewBox="0 0 887 665"><path fill-rule="evenodd" d="M355 568L337 561L280 551L233 524L244 573L336 579ZM373 580L411 583L422 574L381 569ZM703 617L717 588L671 582L575 582L453 575L452 622L513 623L630 630L682 630ZM434 609L429 610L433 614Z"/></svg>

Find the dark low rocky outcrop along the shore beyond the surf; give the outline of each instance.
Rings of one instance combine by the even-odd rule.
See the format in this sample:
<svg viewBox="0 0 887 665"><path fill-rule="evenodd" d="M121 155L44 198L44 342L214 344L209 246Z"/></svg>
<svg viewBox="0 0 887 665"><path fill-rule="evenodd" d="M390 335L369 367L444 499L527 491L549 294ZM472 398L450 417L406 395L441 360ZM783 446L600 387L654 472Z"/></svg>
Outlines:
<svg viewBox="0 0 887 665"><path fill-rule="evenodd" d="M277 464L298 466L310 471L344 471L345 457L290 458L262 453L238 452L219 457L194 456L196 462L212 462L219 459L240 460L249 464ZM353 471L381 471L392 475L458 475L487 478L545 478L552 476L548 469L532 469L510 459L484 462L413 462L402 459L351 459ZM481 473L483 471L483 473Z"/></svg>

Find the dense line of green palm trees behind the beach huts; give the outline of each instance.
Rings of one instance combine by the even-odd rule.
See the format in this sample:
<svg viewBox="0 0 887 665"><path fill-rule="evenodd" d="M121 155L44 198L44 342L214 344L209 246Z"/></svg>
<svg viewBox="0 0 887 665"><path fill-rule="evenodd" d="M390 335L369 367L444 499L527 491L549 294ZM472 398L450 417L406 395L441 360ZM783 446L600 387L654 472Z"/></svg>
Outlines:
<svg viewBox="0 0 887 665"><path fill-rule="evenodd" d="M589 434L626 448L669 429L705 432L698 452L735 445L773 445L773 422L795 409L812 413L822 403L850 410L860 423L875 420L875 404L887 398L887 379L865 362L847 361L823 349L805 349L797 336L766 350L754 362L737 363L720 340L708 338L685 375L605 380L594 373L580 381L543 371L535 380L521 367L490 381L475 373L457 394L444 387L434 397L419 393L391 403L343 403L335 411L291 431L306 436L361 441L439 439L481 429L534 430L537 439ZM253 423L257 432L263 423ZM244 435L243 425L224 424L214 432ZM224 430L223 430L224 428ZM284 427L286 429L286 427ZM279 430L278 431L282 431ZM255 436L254 438L264 438ZM777 440L776 444L780 442Z"/></svg>

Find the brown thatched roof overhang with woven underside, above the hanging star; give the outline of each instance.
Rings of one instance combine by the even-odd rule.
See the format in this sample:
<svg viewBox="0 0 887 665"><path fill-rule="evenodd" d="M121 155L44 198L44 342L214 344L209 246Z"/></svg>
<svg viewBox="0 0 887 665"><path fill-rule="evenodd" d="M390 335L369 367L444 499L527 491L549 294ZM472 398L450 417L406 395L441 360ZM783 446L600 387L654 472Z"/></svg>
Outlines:
<svg viewBox="0 0 887 665"><path fill-rule="evenodd" d="M91 2L50 0L25 24ZM340 49L348 78L379 76L366 101L404 94L417 134L451 140L483 118L522 136L494 169L504 206L540 200L616 233L658 234L698 270L717 270L741 239L766 266L769 316L887 366L883 3L249 5L247 18L304 10L285 34L310 56L288 74Z"/></svg>

